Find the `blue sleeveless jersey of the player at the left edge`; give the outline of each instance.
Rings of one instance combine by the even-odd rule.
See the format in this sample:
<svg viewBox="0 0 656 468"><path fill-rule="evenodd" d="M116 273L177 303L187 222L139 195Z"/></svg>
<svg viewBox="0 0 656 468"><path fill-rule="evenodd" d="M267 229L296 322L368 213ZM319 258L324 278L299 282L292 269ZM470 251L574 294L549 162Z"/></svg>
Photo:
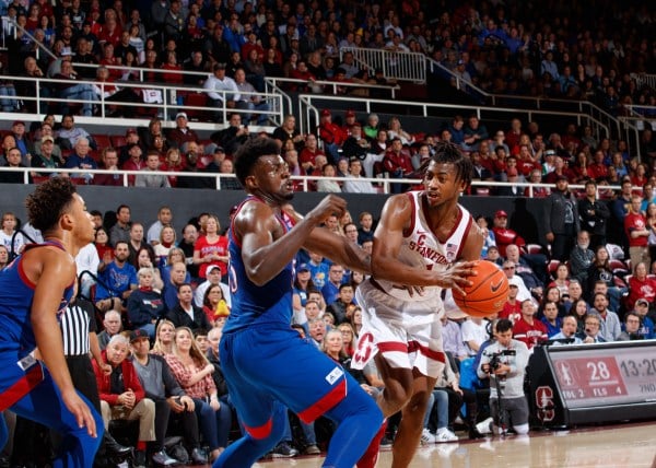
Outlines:
<svg viewBox="0 0 656 468"><path fill-rule="evenodd" d="M28 244L25 246L24 251L46 246L54 246L63 250L61 244L48 241L43 244ZM45 280L47 281L47 279ZM65 290L57 312L58 317L66 311L66 306L72 299L74 286L75 282L73 281ZM16 257L5 269L0 271L0 330L2 330L0 334L0 352L17 351L19 356L22 358L36 348L31 320L35 288L36 284L32 283L23 271L23 255Z"/></svg>

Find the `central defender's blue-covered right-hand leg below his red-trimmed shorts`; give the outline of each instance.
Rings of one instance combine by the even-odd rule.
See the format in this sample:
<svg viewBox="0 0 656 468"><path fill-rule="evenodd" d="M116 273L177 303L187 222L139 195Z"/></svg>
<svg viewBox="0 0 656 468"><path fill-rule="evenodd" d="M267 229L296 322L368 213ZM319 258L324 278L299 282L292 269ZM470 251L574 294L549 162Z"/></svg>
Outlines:
<svg viewBox="0 0 656 468"><path fill-rule="evenodd" d="M324 467L351 468L364 454L383 423L383 414L350 374L347 396L325 414L338 423L330 438Z"/></svg>

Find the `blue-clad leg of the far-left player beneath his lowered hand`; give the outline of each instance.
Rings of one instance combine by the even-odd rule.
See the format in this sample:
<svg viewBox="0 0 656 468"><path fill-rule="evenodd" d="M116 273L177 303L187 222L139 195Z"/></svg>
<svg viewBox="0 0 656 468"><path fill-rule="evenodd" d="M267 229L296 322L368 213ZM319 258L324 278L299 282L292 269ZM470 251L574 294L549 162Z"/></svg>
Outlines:
<svg viewBox="0 0 656 468"><path fill-rule="evenodd" d="M86 428L78 426L75 417L63 405L59 388L47 372L40 384L10 408L16 414L44 424L61 434L63 438L59 448L60 453L52 463L56 468L93 466L95 454L103 440L103 419L82 394L78 393L78 395L89 406L94 417L96 437L89 435Z"/></svg>

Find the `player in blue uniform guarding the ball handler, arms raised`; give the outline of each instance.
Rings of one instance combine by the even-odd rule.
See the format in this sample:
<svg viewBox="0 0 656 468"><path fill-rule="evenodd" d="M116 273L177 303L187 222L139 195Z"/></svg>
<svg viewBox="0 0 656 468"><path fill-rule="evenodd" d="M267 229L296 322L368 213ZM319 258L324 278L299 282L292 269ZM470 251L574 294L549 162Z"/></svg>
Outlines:
<svg viewBox="0 0 656 468"><path fill-rule="evenodd" d="M220 344L221 366L245 435L214 468L246 468L283 434L286 408L305 422L333 420L324 461L352 468L378 431L383 414L341 366L291 327L293 259L301 247L368 271L363 250L319 225L347 203L324 198L305 218L289 204L293 185L274 140L248 140L235 155L235 173L248 198L237 208L230 238L231 315Z"/></svg>

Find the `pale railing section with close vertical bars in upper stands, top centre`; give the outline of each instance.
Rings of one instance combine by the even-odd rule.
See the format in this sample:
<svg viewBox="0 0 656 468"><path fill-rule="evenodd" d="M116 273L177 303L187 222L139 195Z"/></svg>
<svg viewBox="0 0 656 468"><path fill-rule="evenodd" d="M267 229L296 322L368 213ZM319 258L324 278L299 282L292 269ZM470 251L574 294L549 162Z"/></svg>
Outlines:
<svg viewBox="0 0 656 468"><path fill-rule="evenodd" d="M426 56L421 52L341 47L339 49L340 59L345 52L353 54L353 59L359 66L371 71L383 70L383 77L387 80L426 82Z"/></svg>

